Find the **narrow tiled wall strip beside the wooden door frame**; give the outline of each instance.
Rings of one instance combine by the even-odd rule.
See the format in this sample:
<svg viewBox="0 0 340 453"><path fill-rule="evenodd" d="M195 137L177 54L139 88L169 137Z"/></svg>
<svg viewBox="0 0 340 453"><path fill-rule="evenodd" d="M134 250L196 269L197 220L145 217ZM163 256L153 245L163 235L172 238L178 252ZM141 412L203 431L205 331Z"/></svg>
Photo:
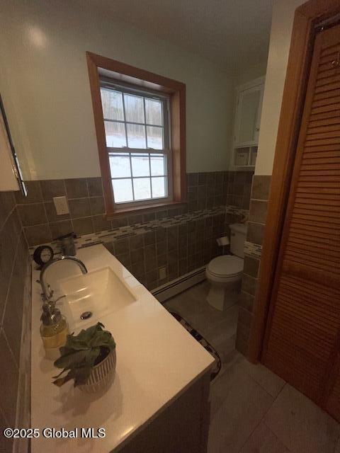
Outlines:
<svg viewBox="0 0 340 453"><path fill-rule="evenodd" d="M254 176L249 225L244 248L244 271L239 297L239 320L236 338L236 348L244 355L248 351L251 322L256 310L256 291L270 185L271 176Z"/></svg>

